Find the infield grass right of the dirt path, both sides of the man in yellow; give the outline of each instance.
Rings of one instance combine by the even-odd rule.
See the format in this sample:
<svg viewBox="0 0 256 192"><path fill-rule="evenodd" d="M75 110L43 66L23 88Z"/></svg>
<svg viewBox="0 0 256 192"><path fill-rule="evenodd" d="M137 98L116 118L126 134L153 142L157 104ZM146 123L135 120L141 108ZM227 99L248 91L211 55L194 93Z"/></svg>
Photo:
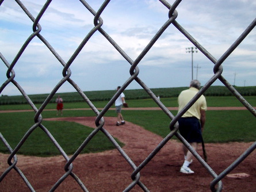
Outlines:
<svg viewBox="0 0 256 192"><path fill-rule="evenodd" d="M177 111L171 111L174 115ZM157 135L166 137L170 133L170 118L162 111L125 111L124 117L143 126ZM250 142L256 138L256 122L247 110L207 111L207 121L203 132L205 143L228 143L232 141ZM174 137L175 139L175 137Z"/></svg>

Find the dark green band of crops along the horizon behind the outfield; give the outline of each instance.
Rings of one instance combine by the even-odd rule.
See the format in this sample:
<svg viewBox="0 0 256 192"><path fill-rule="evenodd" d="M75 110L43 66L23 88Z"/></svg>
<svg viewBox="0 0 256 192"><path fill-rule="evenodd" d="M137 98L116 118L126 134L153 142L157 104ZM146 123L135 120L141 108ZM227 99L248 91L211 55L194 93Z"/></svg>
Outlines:
<svg viewBox="0 0 256 192"><path fill-rule="evenodd" d="M179 93L182 90L188 89L188 87L172 87L172 88L156 88L151 89L151 91L156 95L156 97L169 98L169 97L178 97ZM235 87L235 89L243 96L255 96L256 95L256 86L250 87ZM113 95L116 93L115 90L105 90L105 91L85 91L85 95L90 99L90 101L109 101ZM125 99L147 99L150 98L150 95L146 93L143 89L133 89L125 90ZM56 93L55 97L51 99L51 103L55 103L56 97L60 95L64 102L82 102L84 101L82 96L77 92L72 93ZM204 93L205 96L231 96L232 93L225 86L211 86ZM29 98L33 103L43 103L47 98L48 94L35 94L29 95ZM1 95L0 105L16 105L16 104L25 104L27 103L25 98L22 95L8 96Z"/></svg>

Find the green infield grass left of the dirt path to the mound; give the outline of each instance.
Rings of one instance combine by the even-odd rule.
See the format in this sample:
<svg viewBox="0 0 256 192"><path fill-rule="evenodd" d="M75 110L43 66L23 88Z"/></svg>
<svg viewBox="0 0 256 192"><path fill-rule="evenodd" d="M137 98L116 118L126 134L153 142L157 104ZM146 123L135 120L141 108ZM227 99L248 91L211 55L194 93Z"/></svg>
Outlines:
<svg viewBox="0 0 256 192"><path fill-rule="evenodd" d="M34 124L33 113L12 113L12 116L2 113L0 117L2 120L0 122L0 132L14 149L22 139L22 136ZM66 121L43 121L43 125L51 132L52 136L54 136L68 155L74 153L86 137L94 130L93 128L75 122ZM117 143L121 146L124 145L118 140ZM89 144L86 145L82 153L100 152L113 148L113 144L110 143L104 133L98 132ZM0 144L0 152L9 153L3 144ZM60 155L54 143L52 143L45 132L39 127L33 130L18 153L34 156Z"/></svg>

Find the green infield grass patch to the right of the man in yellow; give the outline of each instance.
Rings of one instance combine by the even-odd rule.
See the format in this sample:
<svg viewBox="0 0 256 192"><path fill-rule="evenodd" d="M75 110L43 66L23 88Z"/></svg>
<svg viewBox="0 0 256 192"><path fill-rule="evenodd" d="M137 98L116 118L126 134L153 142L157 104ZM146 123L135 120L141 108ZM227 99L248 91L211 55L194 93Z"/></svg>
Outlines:
<svg viewBox="0 0 256 192"><path fill-rule="evenodd" d="M208 111L203 136L207 143L255 141L255 117L247 110Z"/></svg>

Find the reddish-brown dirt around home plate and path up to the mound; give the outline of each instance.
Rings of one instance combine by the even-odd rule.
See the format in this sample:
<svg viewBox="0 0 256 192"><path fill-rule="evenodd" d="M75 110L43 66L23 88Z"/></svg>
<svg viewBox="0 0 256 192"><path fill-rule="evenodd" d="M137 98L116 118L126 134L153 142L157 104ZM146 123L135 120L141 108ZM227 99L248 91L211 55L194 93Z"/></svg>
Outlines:
<svg viewBox="0 0 256 192"><path fill-rule="evenodd" d="M45 120L45 119L44 119ZM95 128L95 117L51 118L49 121L74 121ZM104 128L125 144L125 153L139 166L162 138L142 127L127 122L115 126L116 118L105 117ZM220 174L252 143L205 144L208 164L216 174ZM199 148L198 153L202 155ZM8 155L0 155L0 172L6 170ZM194 159L190 168L193 175L179 172L184 157L181 143L170 140L165 147L140 172L140 181L150 191L211 191L212 176ZM62 156L39 158L18 155L17 166L24 173L36 191L49 191L65 173L66 160ZM223 191L256 191L255 151L222 180ZM131 182L133 172L120 153L113 149L101 153L82 154L73 162L73 172L81 179L89 191L123 191ZM0 182L0 191L29 191L24 181L12 170ZM82 191L71 176L56 191ZM131 191L143 191L136 186Z"/></svg>

